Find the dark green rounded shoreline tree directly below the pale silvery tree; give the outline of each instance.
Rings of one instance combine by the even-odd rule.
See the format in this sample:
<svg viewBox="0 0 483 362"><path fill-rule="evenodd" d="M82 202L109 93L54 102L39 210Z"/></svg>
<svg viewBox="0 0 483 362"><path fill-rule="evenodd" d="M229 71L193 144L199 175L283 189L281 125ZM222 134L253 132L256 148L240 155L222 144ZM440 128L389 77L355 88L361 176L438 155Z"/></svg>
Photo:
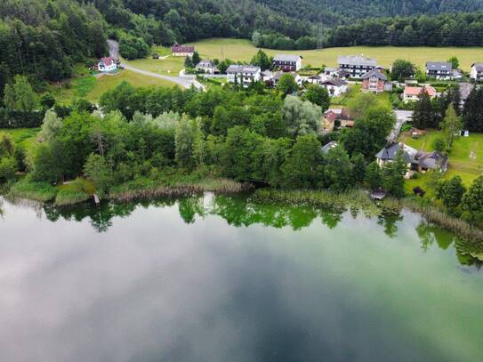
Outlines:
<svg viewBox="0 0 483 362"><path fill-rule="evenodd" d="M284 185L290 189L310 189L322 180L322 151L312 133L297 137L282 165Z"/></svg>

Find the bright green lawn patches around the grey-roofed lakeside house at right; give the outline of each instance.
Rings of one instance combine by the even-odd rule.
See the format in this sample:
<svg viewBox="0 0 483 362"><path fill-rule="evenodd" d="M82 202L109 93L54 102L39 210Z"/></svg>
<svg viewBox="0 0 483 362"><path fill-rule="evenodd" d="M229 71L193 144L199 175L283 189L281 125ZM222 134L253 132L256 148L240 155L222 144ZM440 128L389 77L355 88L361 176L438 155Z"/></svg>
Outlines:
<svg viewBox="0 0 483 362"><path fill-rule="evenodd" d="M431 151L431 144L438 137L438 131L428 131L419 139L401 135L399 141L415 149ZM470 137L457 137L448 156L449 163L445 178L459 175L463 183L470 186L471 181L483 173L483 133L471 133ZM413 183L413 180L409 183Z"/></svg>

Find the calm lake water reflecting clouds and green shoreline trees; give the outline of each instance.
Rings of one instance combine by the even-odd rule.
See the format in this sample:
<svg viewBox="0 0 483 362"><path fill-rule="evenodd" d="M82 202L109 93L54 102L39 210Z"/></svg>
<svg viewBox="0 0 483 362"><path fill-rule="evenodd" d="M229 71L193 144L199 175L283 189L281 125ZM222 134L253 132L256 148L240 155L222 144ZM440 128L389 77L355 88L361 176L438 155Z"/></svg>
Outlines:
<svg viewBox="0 0 483 362"><path fill-rule="evenodd" d="M483 270L415 213L0 206L2 361L479 361Z"/></svg>

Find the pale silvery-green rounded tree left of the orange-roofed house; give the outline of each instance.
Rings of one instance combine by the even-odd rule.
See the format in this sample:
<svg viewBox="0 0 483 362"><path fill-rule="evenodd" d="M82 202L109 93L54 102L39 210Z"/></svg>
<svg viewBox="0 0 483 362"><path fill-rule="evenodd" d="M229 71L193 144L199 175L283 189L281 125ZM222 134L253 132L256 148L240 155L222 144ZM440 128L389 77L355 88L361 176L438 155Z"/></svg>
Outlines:
<svg viewBox="0 0 483 362"><path fill-rule="evenodd" d="M282 115L286 122L286 132L297 136L318 131L322 109L310 101L289 95L284 101Z"/></svg>

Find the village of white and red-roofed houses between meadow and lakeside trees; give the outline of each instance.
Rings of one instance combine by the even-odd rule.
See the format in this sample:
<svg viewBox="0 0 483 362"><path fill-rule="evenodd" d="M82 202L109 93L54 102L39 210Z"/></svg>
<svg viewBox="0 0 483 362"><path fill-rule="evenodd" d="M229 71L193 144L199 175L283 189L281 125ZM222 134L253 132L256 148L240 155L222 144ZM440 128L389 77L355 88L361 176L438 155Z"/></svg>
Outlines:
<svg viewBox="0 0 483 362"><path fill-rule="evenodd" d="M411 76L391 80L392 65L389 68L382 67L376 59L362 54L338 56L337 67L324 66L314 71L313 68L304 67L302 55L297 54L275 54L270 57L270 64L261 67L246 62L235 63L231 60L221 62L216 59L201 59L193 45L173 44L170 50L172 57L181 57L185 60L186 68L182 70L183 75L196 76L196 79L202 82L221 81L221 84L234 84L244 89L261 83L268 88L276 88L282 76L290 75L298 85L299 93L306 92L310 84L326 89L331 99L331 106L324 111L320 121L319 130L322 134L330 134L354 126L355 117L345 105L348 98L357 93L372 93L379 97L387 94L397 122L388 137L386 147L374 157L377 164L382 167L394 161L398 153L404 154L407 160L405 175L407 180L415 178L415 173L427 173L431 170L446 173L450 163L444 149L415 149L398 139L402 130L409 140L417 140L425 133L424 130L405 126L412 120L415 103L423 94L429 96L431 100L437 99L447 92L448 84L458 84L460 93L458 107L461 110L473 88L483 80L483 62L473 63L471 72L464 74L451 60L428 60L425 69L414 67ZM153 59L160 59L160 57L157 53L153 53ZM122 67L118 60L107 57L101 59L98 70L109 73L116 71L118 66ZM419 76L416 76L418 72ZM458 137L469 136L469 132L463 129L455 130L455 133ZM326 153L337 145L337 141L328 141L322 147L322 152ZM374 197L383 196L383 193L374 191Z"/></svg>

